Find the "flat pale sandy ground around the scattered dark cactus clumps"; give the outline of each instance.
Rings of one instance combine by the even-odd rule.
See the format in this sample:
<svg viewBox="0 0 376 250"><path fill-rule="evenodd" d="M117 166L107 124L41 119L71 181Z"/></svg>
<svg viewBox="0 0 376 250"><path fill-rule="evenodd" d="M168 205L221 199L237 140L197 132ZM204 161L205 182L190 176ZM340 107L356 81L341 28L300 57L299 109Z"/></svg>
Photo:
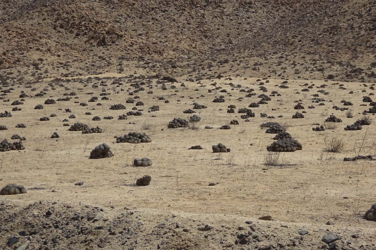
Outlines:
<svg viewBox="0 0 376 250"><path fill-rule="evenodd" d="M325 226L326 222L332 220L335 226L331 227L338 230L346 228L349 232L364 235L362 241L353 243L353 246L360 247L374 242L376 224L362 219L362 215L375 202L375 163L363 160L343 161L343 157L354 156L355 142L359 141L365 133L367 133L367 149L364 153L371 149L376 140L374 123L370 126L363 126L363 129L359 131L344 130L346 125L353 124L362 117L361 113L370 107L359 105L363 103L363 96L374 93L369 89L371 84L364 87L362 83L340 82L346 88L346 90L341 90L338 85L332 85L334 82L331 81L288 80L289 88L282 89L275 85L281 84L283 80L270 79L270 83L264 85L268 89L268 92L264 94L269 95L274 90L282 96L271 97L267 105L250 108L255 112L256 117L249 118L250 122L244 122L237 113L237 109L247 108L249 103L257 102L258 94L263 93L259 90L259 82L256 82L256 79L202 80L201 85L197 82L185 81L186 87L181 87L180 83L174 83L172 85L175 85L176 89L170 89L171 84L167 84L168 90L162 90L160 84L155 87L154 81L153 94L147 94L149 89L145 85L143 87L146 90L136 94L140 96L140 99L136 101L144 102L144 106L138 106L139 109L144 109L143 115L128 116L127 120L117 120L118 115L130 111L134 106L132 103L125 102L126 99L134 96L127 96L127 91L120 91L120 88L127 90L130 87L130 83L126 82L127 79L123 79L124 85L120 87L111 85L113 80L118 80L115 78L86 79L82 81L83 83L80 83L79 79L64 82L64 86L70 90L64 90L64 87L59 87L58 84L55 84L56 90L51 90L51 87L47 85L48 81L34 84L33 88L37 88L35 92L30 91L30 88L25 88L24 85L20 88L15 87L12 93L5 96L11 102L1 103L1 112L10 111L14 107L10 104L13 100L20 99L18 96L21 90L28 95L35 94L45 87L49 91L44 97L26 97L24 105L18 105L22 111L11 112L13 116L9 118L0 118L0 124L8 127L8 130L0 132L2 138L10 139L14 134L27 138L24 142L26 150L1 153L0 186L16 183L24 185L27 189L33 187L44 189L28 190L27 194L17 196L1 196L0 199L19 205L36 201L88 204L104 208L109 217L115 217L124 207L142 210L148 216L156 218L159 218L158 214L161 213L189 216L201 214L203 217L210 215L214 218L212 223L217 223L218 226L221 225L222 220L230 216L256 220L260 216L270 215L279 224L299 223L312 230L313 228L326 228L328 227ZM94 83L99 85L102 80L108 84L108 87L90 87ZM84 90L77 90L83 87L85 81L89 81L88 87ZM141 81L138 80L138 82ZM219 90L208 93L209 89L214 88L210 85L213 82L217 82L217 86L225 88L232 96L220 93ZM231 90L231 86L225 85L230 82L235 85L241 84L241 88L253 88L257 95L250 98L244 97L247 93L239 92L241 88ZM305 87L301 85L304 83L315 84L315 86L309 92L302 92L301 90ZM321 84L328 86L316 88ZM199 91L194 91L196 88ZM111 93L108 95L110 100L100 100L99 94L102 93L102 89ZM311 95L321 89L329 92L329 95L319 94L320 98L327 100L324 106L312 103L311 100ZM132 90L133 87L130 87L130 91ZM348 94L351 90L354 94ZM366 93L362 93L362 90L366 90ZM47 98L56 100L64 97L64 93L72 91L77 93L79 99L72 98L70 101L57 102L53 105L43 104ZM117 94L114 91L120 92ZM296 94L297 91L300 93ZM88 92L94 92L94 94L85 94ZM201 95L205 97L200 97ZM224 95L226 101L212 103L212 100L220 95ZM91 96L97 96L99 100L87 102ZM155 98L160 96L165 97L170 103L164 103L164 100ZM193 98L190 99L190 97ZM238 97L244 97L244 99L240 102L237 100ZM277 102L277 100L282 100L282 102ZM307 111L303 119L291 119L297 111L294 110L295 100L301 100L305 107L304 111ZM332 109L333 105L343 107L341 100L351 100L354 104L345 106L350 108L353 118L346 118L346 111ZM79 106L79 103L74 103L74 101L86 102L88 106ZM96 106L98 102L103 106ZM198 123L199 129L167 129L168 122L174 117L189 119L193 115L183 114L185 109L193 109L193 102L208 106L207 109L194 109L197 112L196 115L201 117ZM124 104L127 109L109 109L111 105L117 103ZM44 109L34 109L34 106L38 104L42 104ZM236 105L233 114L226 112L227 106L231 104ZM147 109L153 105L159 105L160 111L148 113ZM308 109L309 105L315 105L316 108ZM62 110L58 110L59 108ZM73 112L66 113L65 108L70 108ZM93 108L95 110L92 110ZM272 111L272 108L276 110ZM92 112L92 115L85 115L85 112ZM52 113L57 114L57 117L51 117L50 121L39 121L40 117L49 116ZM260 118L260 113L284 117ZM323 124L332 113L343 121L337 123L336 129L324 132L312 131L312 127L316 127L312 124ZM76 115L77 118L69 119L70 114ZM96 115L102 120L92 121L92 117ZM113 116L114 119L103 120L103 117L108 115ZM151 117L151 115L156 117ZM69 127L62 126L64 118L68 118L70 125L82 122L88 124L89 127L99 126L104 129L104 133L83 135L81 132L68 131ZM224 124L229 124L233 119L237 119L240 125L231 125L230 130L218 129ZM268 153L266 147L274 141L272 140L273 134L265 133L265 129L260 128L260 124L267 121L288 125L287 131L303 145L302 151L281 154L281 157L285 157L290 163L287 166L270 167L263 164L264 156ZM129 122L136 124L128 124ZM25 123L27 127L15 128L18 123ZM144 123L152 124L152 129L142 130ZM212 126L214 129L204 129L205 126ZM153 141L145 144L115 143L114 136L133 131L147 133ZM60 138L50 139L53 132L58 132ZM324 138L332 137L343 138L346 141L343 152L326 153L323 151ZM89 159L92 148L103 142L110 145L115 156L110 159ZM218 143L231 148L231 152L212 153L211 146ZM187 150L194 145L201 145L203 150ZM374 151L368 154L374 154ZM144 168L133 167L133 159L136 157L149 157L153 160L153 165ZM150 185L134 186L135 180L143 175L152 176ZM78 181L83 181L84 185L75 186L74 183ZM209 183L218 184L208 186ZM52 190L56 192L51 192ZM111 206L114 208L111 209ZM318 244L323 234L315 235L318 235L315 240ZM3 234L3 243L10 236ZM235 240L236 237L233 237L233 241ZM8 249L3 243L2 247ZM221 248L218 244L212 244L209 248L201 244L201 247L191 246L182 249ZM322 242L319 246L321 245ZM35 242L30 244L30 247L38 246ZM64 246L59 246L59 244L55 247L64 249ZM113 245L108 247L118 249ZM313 249L313 246L299 245L299 248ZM135 249L142 248L135 247ZM366 249L373 248L367 245Z"/></svg>

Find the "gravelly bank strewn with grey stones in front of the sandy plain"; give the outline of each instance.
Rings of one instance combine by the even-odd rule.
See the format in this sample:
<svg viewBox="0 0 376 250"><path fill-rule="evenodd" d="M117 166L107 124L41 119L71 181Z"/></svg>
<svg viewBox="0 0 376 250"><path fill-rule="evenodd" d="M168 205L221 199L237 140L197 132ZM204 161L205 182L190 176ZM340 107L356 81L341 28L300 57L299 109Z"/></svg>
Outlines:
<svg viewBox="0 0 376 250"><path fill-rule="evenodd" d="M373 229L326 224L3 200L0 249L376 249Z"/></svg>

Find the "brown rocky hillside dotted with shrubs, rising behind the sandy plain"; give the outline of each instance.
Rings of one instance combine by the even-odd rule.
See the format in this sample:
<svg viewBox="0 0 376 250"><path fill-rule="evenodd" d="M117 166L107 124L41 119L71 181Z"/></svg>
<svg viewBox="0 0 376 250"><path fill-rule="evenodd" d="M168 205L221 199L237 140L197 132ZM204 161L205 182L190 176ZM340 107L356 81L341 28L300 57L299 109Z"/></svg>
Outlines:
<svg viewBox="0 0 376 250"><path fill-rule="evenodd" d="M3 69L376 81L376 1L3 1ZM39 58L39 61L38 61ZM21 70L22 71L22 70Z"/></svg>

